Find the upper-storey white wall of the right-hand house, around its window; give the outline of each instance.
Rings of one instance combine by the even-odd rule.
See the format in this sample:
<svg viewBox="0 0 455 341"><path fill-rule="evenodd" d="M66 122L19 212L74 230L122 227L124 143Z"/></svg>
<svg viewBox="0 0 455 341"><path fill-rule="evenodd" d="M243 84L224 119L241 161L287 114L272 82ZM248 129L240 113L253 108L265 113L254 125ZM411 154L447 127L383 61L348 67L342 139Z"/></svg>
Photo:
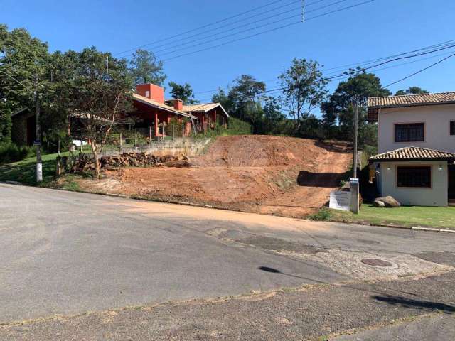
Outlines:
<svg viewBox="0 0 455 341"><path fill-rule="evenodd" d="M449 134L450 121L455 121L455 104L380 109L379 152L415 146L455 153L455 136ZM395 142L394 124L420 122L425 124L424 142Z"/></svg>

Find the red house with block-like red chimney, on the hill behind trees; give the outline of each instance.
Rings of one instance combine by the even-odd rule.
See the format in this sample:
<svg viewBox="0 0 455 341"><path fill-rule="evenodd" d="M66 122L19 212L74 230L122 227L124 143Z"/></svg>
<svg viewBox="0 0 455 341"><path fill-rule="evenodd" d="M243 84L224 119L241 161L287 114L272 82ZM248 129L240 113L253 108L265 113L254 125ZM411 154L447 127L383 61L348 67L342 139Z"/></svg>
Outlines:
<svg viewBox="0 0 455 341"><path fill-rule="evenodd" d="M130 117L139 119L137 127L152 127L154 136L166 136L164 127L177 119L186 121L183 135L191 134L191 129L199 132L214 129L216 123L227 126L229 114L219 103L183 105L180 99L164 100L164 89L154 84L137 85L133 94L134 109Z"/></svg>

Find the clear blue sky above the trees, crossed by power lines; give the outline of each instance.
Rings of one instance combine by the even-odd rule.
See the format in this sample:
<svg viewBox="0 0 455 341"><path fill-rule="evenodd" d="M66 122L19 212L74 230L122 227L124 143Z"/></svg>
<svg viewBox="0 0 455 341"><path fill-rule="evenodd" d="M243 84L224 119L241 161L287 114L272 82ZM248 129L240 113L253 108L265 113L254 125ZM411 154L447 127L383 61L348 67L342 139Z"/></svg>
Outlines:
<svg viewBox="0 0 455 341"><path fill-rule="evenodd" d="M272 1L2 0L0 2L0 22L6 23L9 28L27 28L33 36L47 41L50 50L81 50L84 47L95 45L100 50L116 54L139 45L179 35L184 31L219 21L228 16L234 16L242 11L266 5ZM321 0L318 4L307 6L308 11L314 11L308 13L307 17L311 18L311 16L363 1L345 0L341 1L340 4L315 11L319 7L338 2L336 0ZM277 1L276 4L231 21L244 19L291 2L293 1ZM310 4L315 0L306 0L306 2ZM252 25L257 26L287 16L298 16L298 7L299 3L294 3L282 9L250 18L249 21L275 16L274 19ZM282 15L277 14L284 11L290 12ZM267 80L269 81L267 82L268 89L274 89L277 85L273 79L290 65L294 57L314 59L324 67L331 68L455 39L454 14L455 1L451 0L375 0L363 6L316 18L306 23L299 23L262 36L248 38L202 53L187 55L183 58L167 60L165 72L168 75L167 81L189 82L200 100L209 100L211 93L199 92L227 87L235 77L242 74L251 74L258 80ZM162 43L151 45L151 48L158 51L178 45L178 48L172 50L188 53L192 50L217 45L242 36L249 36L296 20L298 18L289 19L256 31L237 34L232 38L218 40L208 45L200 45L193 49L188 49L188 46L204 40L199 40L193 44L180 45L249 22L247 20L242 21L216 31L216 27L230 23L230 21L224 21L186 36L178 36L173 40L199 34L197 37L186 38L186 40L176 43L172 43L173 40L168 39ZM245 26L242 29L252 26ZM241 29L230 33L238 31ZM156 45L163 43L171 44L156 47ZM451 50L455 52L455 48ZM166 59L180 54L164 55L168 51L165 50L157 53L157 55ZM447 51L441 51L441 53L447 53ZM382 84L385 85L432 64L444 56L446 55L400 67L392 67L378 71L377 74L381 77ZM395 92L405 87L417 85L431 92L455 91L454 71L455 57L427 72L412 77L410 80L390 87L390 90ZM337 82L332 82L328 85L328 89L333 90L336 85Z"/></svg>

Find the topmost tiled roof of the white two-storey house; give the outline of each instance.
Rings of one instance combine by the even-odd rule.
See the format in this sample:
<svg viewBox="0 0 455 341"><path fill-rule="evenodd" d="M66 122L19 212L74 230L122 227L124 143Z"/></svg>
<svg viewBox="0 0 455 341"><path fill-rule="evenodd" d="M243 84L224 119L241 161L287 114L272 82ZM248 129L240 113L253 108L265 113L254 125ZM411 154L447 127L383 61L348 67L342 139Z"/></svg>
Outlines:
<svg viewBox="0 0 455 341"><path fill-rule="evenodd" d="M430 104L455 104L455 92L368 98L368 108L414 107Z"/></svg>

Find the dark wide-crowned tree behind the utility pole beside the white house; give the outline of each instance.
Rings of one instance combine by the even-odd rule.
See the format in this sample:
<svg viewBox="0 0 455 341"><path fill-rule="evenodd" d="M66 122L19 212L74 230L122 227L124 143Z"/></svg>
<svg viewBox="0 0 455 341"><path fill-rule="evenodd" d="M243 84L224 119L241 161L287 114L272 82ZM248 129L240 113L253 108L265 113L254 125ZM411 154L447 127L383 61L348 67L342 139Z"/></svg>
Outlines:
<svg viewBox="0 0 455 341"><path fill-rule="evenodd" d="M371 131L376 128L366 121L368 97L389 96L390 91L382 87L379 77L373 73L358 71L351 70L348 80L340 82L328 101L321 104L323 121L332 124L336 117L340 131L337 137L353 141L354 106L358 104L359 143L375 144L371 141L374 135Z"/></svg>

